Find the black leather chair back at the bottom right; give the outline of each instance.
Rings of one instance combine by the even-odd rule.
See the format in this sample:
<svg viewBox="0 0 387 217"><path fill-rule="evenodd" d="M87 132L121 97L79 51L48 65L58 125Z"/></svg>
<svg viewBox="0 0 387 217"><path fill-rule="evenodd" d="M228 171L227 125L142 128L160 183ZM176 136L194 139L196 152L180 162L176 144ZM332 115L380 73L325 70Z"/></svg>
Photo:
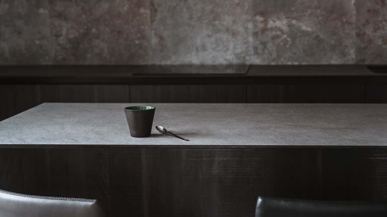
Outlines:
<svg viewBox="0 0 387 217"><path fill-rule="evenodd" d="M387 217L387 199L314 201L258 197L256 217Z"/></svg>

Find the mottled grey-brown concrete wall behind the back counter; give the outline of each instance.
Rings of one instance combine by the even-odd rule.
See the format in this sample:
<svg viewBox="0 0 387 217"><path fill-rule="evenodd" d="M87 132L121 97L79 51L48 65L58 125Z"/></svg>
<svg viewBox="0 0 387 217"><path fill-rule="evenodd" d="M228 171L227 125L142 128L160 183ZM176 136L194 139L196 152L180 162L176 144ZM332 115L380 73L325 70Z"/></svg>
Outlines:
<svg viewBox="0 0 387 217"><path fill-rule="evenodd" d="M387 0L0 0L0 64L387 63Z"/></svg>

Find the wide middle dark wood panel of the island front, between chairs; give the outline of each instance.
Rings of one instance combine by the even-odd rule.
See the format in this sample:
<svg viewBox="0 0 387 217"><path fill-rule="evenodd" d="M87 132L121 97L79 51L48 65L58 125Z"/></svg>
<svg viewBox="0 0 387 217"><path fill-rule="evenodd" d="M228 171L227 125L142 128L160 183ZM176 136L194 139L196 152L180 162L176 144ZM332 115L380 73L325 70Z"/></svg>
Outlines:
<svg viewBox="0 0 387 217"><path fill-rule="evenodd" d="M146 152L149 216L254 216L260 195L318 198L321 191L313 149Z"/></svg>

